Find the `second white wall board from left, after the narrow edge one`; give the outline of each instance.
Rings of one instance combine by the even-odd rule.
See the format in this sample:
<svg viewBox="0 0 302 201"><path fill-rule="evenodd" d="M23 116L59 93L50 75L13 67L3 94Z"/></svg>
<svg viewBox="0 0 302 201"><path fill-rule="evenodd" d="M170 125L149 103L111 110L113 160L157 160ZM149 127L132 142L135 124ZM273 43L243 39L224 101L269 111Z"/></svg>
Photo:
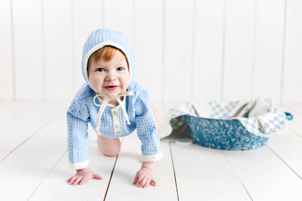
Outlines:
<svg viewBox="0 0 302 201"><path fill-rule="evenodd" d="M17 100L42 100L41 1L14 0L13 29Z"/></svg>

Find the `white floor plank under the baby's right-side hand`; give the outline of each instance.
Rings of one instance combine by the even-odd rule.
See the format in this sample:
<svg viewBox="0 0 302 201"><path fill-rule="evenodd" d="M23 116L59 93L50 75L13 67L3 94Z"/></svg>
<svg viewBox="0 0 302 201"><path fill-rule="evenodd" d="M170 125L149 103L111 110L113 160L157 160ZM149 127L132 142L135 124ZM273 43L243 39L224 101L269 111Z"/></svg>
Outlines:
<svg viewBox="0 0 302 201"><path fill-rule="evenodd" d="M140 145L136 132L124 137L105 200L178 200L168 143L161 143L163 158L156 162L153 173L158 186L132 184L142 164Z"/></svg>

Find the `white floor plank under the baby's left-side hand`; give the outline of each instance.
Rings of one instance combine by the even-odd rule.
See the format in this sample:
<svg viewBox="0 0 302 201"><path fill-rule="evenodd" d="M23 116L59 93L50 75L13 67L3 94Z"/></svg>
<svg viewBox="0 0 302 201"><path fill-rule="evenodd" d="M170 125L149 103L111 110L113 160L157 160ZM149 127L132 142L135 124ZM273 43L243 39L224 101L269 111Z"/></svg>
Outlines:
<svg viewBox="0 0 302 201"><path fill-rule="evenodd" d="M47 175L42 184L35 191L33 200L103 200L111 177L116 157L108 157L101 153L96 143L95 131L89 126L89 168L103 177L102 180L92 179L83 185L69 185L66 180L76 173L68 167L68 154ZM67 136L67 134L66 134Z"/></svg>

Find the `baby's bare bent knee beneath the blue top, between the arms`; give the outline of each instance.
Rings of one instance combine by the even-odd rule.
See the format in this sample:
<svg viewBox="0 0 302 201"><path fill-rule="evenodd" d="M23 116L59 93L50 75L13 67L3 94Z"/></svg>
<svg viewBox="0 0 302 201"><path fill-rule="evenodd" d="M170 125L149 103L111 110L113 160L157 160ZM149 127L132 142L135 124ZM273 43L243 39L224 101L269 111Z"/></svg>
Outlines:
<svg viewBox="0 0 302 201"><path fill-rule="evenodd" d="M120 139L119 138L107 138L98 135L98 148L104 155L117 156L120 152Z"/></svg>

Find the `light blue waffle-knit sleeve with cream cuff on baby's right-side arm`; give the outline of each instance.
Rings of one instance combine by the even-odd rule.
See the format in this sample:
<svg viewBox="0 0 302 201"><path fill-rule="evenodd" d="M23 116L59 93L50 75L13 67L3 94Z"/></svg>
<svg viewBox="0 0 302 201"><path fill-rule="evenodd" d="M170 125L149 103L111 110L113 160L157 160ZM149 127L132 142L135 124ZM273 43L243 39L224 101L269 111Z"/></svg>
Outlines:
<svg viewBox="0 0 302 201"><path fill-rule="evenodd" d="M142 161L154 162L162 158L157 124L146 89L137 92L134 103L137 135L142 142Z"/></svg>

